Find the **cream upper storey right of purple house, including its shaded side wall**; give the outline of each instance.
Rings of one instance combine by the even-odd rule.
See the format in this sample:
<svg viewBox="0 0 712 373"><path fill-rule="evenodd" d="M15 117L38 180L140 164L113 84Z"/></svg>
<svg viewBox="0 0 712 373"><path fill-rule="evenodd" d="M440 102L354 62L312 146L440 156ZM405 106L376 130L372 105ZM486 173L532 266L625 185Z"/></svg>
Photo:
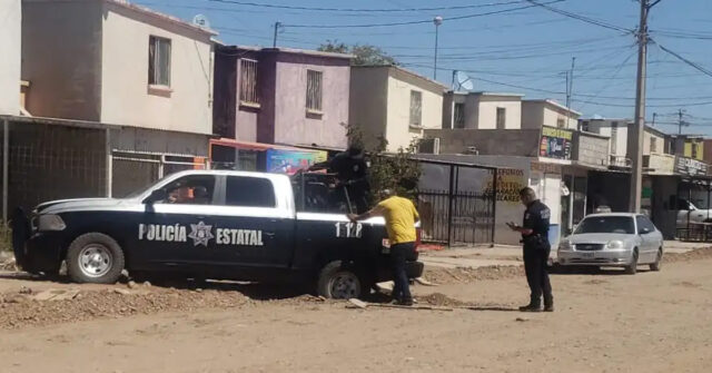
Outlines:
<svg viewBox="0 0 712 373"><path fill-rule="evenodd" d="M379 139L387 151L407 148L424 130L443 126L443 92L447 87L396 66L354 66L349 120L367 146Z"/></svg>

